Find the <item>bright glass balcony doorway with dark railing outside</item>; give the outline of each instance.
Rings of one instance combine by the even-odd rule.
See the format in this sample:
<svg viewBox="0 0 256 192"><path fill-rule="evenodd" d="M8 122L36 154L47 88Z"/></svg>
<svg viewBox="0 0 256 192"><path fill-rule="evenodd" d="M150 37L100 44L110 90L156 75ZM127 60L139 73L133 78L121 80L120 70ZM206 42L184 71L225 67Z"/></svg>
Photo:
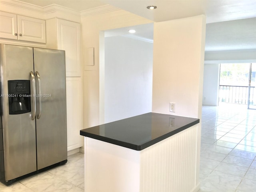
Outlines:
<svg viewBox="0 0 256 192"><path fill-rule="evenodd" d="M247 105L256 109L256 63L220 64L218 102Z"/></svg>

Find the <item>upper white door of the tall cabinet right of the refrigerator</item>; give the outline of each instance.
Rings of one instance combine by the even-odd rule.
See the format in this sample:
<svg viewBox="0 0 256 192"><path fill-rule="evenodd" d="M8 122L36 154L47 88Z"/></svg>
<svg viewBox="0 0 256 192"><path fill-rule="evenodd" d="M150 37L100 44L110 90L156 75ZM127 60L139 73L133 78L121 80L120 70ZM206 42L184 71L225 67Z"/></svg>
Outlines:
<svg viewBox="0 0 256 192"><path fill-rule="evenodd" d="M66 51L66 76L81 76L80 24L57 19L58 49Z"/></svg>

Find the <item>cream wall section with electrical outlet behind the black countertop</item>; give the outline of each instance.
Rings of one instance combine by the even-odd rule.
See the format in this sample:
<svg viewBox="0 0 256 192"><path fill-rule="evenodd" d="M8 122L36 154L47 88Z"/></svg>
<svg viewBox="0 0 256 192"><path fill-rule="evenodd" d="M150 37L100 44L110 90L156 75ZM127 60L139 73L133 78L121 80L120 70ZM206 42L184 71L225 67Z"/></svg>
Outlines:
<svg viewBox="0 0 256 192"><path fill-rule="evenodd" d="M205 28L204 16L154 24L153 112L201 118Z"/></svg>

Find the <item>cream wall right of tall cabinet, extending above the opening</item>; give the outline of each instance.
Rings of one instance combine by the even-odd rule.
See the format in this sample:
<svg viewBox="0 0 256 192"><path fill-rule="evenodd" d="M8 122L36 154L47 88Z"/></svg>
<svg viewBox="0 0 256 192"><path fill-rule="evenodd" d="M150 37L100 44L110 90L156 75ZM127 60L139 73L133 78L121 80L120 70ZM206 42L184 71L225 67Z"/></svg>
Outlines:
<svg viewBox="0 0 256 192"><path fill-rule="evenodd" d="M82 55L86 48L94 47L94 66L86 66L85 58L82 59L83 128L104 123L104 82L100 76L104 72L102 31L146 23L152 21L124 10L81 18Z"/></svg>

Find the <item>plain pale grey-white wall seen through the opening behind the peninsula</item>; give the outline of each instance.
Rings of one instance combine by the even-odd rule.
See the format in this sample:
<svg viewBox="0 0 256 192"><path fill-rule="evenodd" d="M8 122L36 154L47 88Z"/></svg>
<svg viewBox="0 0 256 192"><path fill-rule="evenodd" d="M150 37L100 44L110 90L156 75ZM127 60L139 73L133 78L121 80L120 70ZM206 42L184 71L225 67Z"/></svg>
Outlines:
<svg viewBox="0 0 256 192"><path fill-rule="evenodd" d="M153 44L105 38L105 123L151 112Z"/></svg>

